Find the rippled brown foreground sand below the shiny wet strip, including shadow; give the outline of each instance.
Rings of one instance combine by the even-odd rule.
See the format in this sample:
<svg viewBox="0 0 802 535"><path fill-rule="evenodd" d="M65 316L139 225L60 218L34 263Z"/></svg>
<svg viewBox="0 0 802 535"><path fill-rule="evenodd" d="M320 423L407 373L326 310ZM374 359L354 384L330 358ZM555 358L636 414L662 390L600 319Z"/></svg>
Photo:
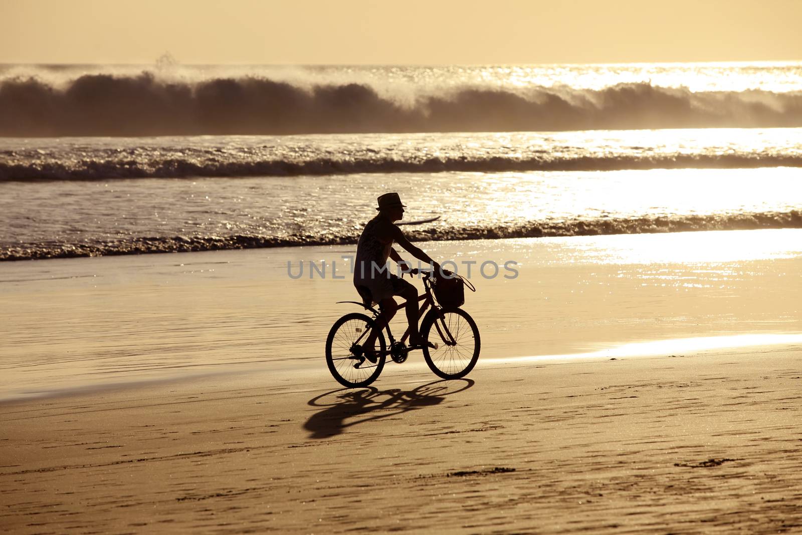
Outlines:
<svg viewBox="0 0 802 535"><path fill-rule="evenodd" d="M802 347L0 408L10 533L796 533Z"/></svg>

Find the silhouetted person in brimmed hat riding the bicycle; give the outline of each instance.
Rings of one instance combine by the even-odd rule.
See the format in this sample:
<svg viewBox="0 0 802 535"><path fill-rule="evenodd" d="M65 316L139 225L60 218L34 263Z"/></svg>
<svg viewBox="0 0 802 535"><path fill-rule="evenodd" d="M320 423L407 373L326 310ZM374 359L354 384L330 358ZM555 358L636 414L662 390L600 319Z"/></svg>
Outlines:
<svg viewBox="0 0 802 535"><path fill-rule="evenodd" d="M390 322L398 310L398 303L395 302L393 296L398 295L405 298L407 300L410 346L420 347L423 340L418 332L418 290L410 282L390 273L387 267L387 258L392 258L399 265L408 265L408 262L403 260L393 249L393 243L397 242L413 257L427 262L435 270L439 270L439 264L433 261L427 253L412 245L398 225L395 225L395 221L403 218L406 207L401 204L399 194L385 193L377 201L379 201L379 208L377 208L379 213L367 222L356 246L354 286L360 297L363 298L365 306L372 306L374 302L379 303L381 308L381 314L377 320L379 330L383 329L387 322ZM374 348L376 334L375 330L371 331L363 344L364 355L371 363L376 362Z"/></svg>

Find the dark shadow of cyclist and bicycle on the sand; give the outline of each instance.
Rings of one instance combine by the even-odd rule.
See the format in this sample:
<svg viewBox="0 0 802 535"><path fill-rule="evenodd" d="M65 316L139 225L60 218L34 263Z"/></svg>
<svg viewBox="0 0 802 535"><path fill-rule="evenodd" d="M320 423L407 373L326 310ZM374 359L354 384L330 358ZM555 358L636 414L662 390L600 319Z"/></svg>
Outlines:
<svg viewBox="0 0 802 535"><path fill-rule="evenodd" d="M472 379L443 379L411 391L365 387L360 390L339 389L326 392L309 400L312 407L325 408L311 415L303 427L310 432L312 439L337 436L346 428L357 424L433 407L442 403L445 396L468 390L474 383ZM322 403L326 396L331 395L336 398L333 402Z"/></svg>

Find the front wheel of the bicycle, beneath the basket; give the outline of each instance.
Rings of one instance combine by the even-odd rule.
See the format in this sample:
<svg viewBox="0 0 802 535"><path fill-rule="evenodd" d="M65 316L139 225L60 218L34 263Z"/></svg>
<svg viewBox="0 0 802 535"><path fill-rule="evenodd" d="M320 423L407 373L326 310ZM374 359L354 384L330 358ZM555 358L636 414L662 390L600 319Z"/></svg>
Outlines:
<svg viewBox="0 0 802 535"><path fill-rule="evenodd" d="M476 366L481 341L476 322L462 309L432 310L420 327L423 340L437 349L423 346L423 358L443 379L460 379Z"/></svg>

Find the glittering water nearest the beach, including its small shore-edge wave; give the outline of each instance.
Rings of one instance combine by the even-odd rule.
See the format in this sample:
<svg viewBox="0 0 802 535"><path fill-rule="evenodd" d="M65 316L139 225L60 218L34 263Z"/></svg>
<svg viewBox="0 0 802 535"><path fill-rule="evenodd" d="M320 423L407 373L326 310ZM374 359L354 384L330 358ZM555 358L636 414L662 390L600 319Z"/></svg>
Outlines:
<svg viewBox="0 0 802 535"><path fill-rule="evenodd" d="M7 182L0 260L350 244L384 188L409 203L407 221L431 220L405 227L413 241L800 228L798 178L759 168Z"/></svg>

